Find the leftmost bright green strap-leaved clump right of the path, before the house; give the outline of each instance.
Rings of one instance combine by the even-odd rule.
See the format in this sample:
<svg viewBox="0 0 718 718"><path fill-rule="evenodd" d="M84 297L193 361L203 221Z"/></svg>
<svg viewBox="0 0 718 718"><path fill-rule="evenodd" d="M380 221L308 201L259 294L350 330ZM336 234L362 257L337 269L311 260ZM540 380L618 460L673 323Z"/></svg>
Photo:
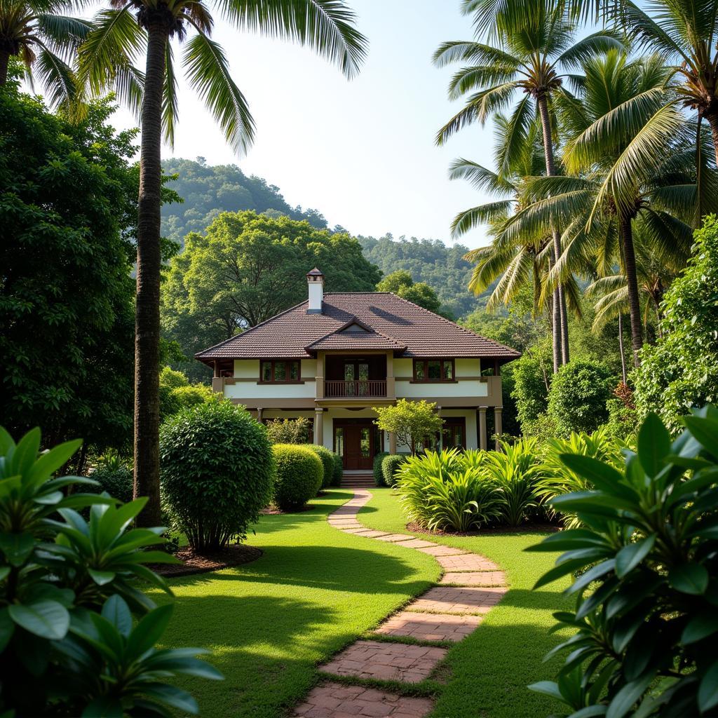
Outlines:
<svg viewBox="0 0 718 718"><path fill-rule="evenodd" d="M396 488L409 518L430 531L469 531L500 515L498 489L457 449L406 457Z"/></svg>

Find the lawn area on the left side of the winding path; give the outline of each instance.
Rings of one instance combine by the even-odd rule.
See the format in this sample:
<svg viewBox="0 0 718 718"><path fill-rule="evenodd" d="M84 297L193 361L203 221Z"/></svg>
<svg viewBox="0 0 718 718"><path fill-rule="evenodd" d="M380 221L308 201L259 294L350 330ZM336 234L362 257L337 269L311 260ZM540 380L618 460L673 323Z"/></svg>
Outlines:
<svg viewBox="0 0 718 718"><path fill-rule="evenodd" d="M316 666L437 579L431 556L332 528L351 496L332 490L303 513L263 516L252 564L174 579L165 645L209 648L225 681L184 681L204 718L279 718L317 680ZM162 594L152 594L162 601Z"/></svg>

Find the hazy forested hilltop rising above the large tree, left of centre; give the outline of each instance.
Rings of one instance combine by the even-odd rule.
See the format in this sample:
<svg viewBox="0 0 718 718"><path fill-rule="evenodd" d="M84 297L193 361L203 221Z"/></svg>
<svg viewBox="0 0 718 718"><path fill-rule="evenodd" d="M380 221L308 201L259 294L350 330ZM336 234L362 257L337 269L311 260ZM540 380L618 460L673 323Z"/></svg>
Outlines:
<svg viewBox="0 0 718 718"><path fill-rule="evenodd" d="M165 174L177 174L167 187L182 197L182 204L162 207L162 236L182 245L190 232L204 232L223 212L254 210L269 215L286 215L307 220L323 229L327 220L317 210L291 207L281 196L279 187L267 184L261 177L247 177L236 164L205 163L204 157L170 158L163 162Z"/></svg>

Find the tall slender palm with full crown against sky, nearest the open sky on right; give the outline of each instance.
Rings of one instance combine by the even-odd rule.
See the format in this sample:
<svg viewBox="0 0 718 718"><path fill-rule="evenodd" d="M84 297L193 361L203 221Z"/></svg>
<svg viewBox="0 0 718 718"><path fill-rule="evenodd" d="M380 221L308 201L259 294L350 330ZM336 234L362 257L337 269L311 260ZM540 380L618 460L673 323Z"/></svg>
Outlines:
<svg viewBox="0 0 718 718"><path fill-rule="evenodd" d="M524 3L526 5L526 3ZM582 60L610 48L623 48L613 32L605 30L575 40L576 27L567 22L563 11L543 0L529 0L530 12L522 12L516 22L505 22L496 45L475 41L444 42L434 53L434 62L443 67L467 62L449 84L449 98L457 99L476 90L466 105L437 134L441 145L463 126L482 125L499 111L518 100L510 116L507 158L523 144L532 119L538 115L543 132L546 174L557 173L554 157L555 123L551 122L552 101L564 80L575 80L569 71ZM498 26L497 26L498 27ZM500 47L498 46L500 45ZM562 74L562 72L564 74ZM501 172L505 168L499 168ZM561 254L561 231L551 228L554 261ZM569 360L568 317L564 286L554 289L554 370Z"/></svg>

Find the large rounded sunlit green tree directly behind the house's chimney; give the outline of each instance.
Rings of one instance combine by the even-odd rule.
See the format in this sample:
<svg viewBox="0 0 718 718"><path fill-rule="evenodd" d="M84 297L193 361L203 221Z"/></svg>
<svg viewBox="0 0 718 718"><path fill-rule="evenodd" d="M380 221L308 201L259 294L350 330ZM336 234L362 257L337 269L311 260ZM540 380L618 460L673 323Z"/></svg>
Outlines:
<svg viewBox="0 0 718 718"><path fill-rule="evenodd" d="M302 302L314 266L325 273L325 292L370 292L380 278L347 233L251 211L223 213L205 236L187 235L185 251L172 260L162 292L165 336L191 357ZM195 363L188 376L205 376Z"/></svg>

